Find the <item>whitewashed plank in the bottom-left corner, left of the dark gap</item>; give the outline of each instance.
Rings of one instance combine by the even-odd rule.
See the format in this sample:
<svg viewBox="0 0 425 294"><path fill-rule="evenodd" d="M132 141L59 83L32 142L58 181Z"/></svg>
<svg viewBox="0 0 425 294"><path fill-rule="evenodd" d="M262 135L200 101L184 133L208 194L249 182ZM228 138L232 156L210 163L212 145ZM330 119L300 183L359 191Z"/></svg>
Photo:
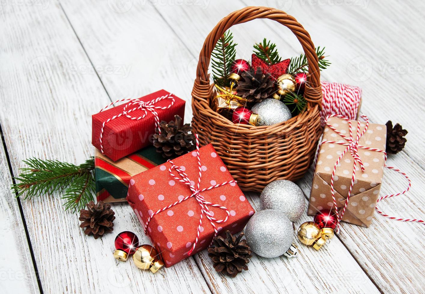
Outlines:
<svg viewBox="0 0 425 294"><path fill-rule="evenodd" d="M11 176L3 144L0 146L0 289L12 293L39 292L37 277L17 199L11 195Z"/></svg>

